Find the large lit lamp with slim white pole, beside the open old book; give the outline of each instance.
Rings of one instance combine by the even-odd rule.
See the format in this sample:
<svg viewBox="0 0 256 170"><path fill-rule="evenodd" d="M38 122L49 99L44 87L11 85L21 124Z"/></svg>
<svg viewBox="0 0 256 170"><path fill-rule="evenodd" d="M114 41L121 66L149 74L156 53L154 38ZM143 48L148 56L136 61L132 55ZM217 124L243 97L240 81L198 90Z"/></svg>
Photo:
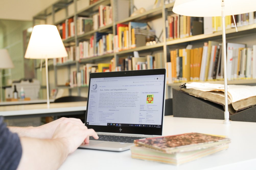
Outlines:
<svg viewBox="0 0 256 170"><path fill-rule="evenodd" d="M222 54L225 93L224 124L231 123L228 111L225 16L253 11L256 11L256 1L253 0L175 0L174 3L173 12L179 15L191 17L221 16L222 18Z"/></svg>

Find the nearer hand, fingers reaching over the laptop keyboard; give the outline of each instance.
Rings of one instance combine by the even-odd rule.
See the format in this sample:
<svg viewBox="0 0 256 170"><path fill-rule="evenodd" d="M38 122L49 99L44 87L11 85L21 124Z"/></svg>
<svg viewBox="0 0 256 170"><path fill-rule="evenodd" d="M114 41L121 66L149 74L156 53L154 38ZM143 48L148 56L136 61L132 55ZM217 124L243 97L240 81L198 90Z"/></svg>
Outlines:
<svg viewBox="0 0 256 170"><path fill-rule="evenodd" d="M83 124L69 121L62 122L57 126L52 139L59 140L68 149L69 154L74 152L83 142L89 143L90 136L95 139L99 138L93 129L88 129Z"/></svg>

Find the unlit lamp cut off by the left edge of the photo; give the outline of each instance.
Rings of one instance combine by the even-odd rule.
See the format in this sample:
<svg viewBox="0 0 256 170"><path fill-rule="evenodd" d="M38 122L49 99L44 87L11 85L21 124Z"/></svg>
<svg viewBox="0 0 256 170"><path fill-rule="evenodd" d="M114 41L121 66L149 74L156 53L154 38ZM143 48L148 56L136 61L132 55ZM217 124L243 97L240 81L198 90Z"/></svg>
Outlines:
<svg viewBox="0 0 256 170"><path fill-rule="evenodd" d="M2 70L14 68L13 62L9 56L7 49L0 49L0 96L3 101L3 89L2 89Z"/></svg>

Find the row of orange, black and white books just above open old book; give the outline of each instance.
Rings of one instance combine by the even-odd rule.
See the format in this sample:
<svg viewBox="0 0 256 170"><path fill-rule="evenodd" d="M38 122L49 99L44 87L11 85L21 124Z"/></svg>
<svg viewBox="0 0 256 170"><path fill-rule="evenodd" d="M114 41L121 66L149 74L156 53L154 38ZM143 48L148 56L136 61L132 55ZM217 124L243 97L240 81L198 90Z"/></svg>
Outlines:
<svg viewBox="0 0 256 170"><path fill-rule="evenodd" d="M167 70L173 82L223 80L222 44L170 51ZM256 78L256 45L227 43L227 80Z"/></svg>

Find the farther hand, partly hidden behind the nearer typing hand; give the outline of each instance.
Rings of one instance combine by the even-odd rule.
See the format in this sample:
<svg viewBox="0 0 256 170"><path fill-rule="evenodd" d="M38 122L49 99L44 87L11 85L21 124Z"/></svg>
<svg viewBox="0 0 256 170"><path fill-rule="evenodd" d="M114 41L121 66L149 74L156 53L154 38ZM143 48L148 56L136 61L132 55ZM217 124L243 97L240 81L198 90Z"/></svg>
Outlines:
<svg viewBox="0 0 256 170"><path fill-rule="evenodd" d="M68 122L84 126L84 124L82 123L82 121L80 119L61 117L61 118L59 118L55 121L52 121L50 123L35 127L36 128L35 131L39 135L39 138L51 139L56 128L61 123L68 123Z"/></svg>

